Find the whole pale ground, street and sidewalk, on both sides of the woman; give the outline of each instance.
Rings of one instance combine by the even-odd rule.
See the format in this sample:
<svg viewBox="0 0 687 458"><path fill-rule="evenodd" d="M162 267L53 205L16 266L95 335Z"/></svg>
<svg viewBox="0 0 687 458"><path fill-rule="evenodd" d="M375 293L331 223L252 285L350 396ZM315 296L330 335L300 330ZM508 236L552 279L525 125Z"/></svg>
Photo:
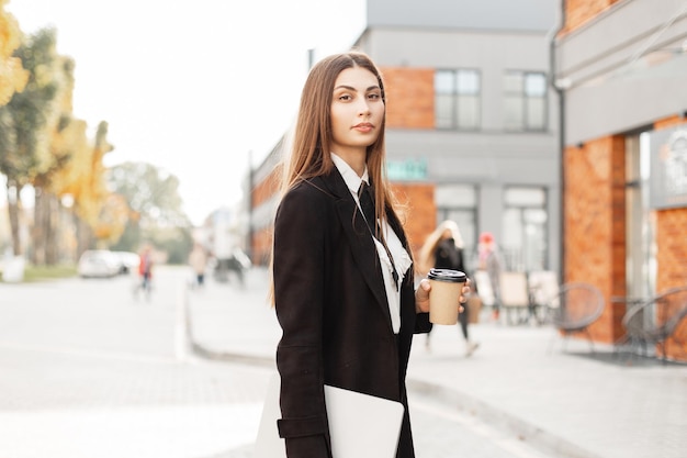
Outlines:
<svg viewBox="0 0 687 458"><path fill-rule="evenodd" d="M104 311L100 337L112 351L78 348L79 336L55 333L50 324L66 322L49 304L32 319L25 306L0 303L0 457L251 458L280 334L266 287L260 270L244 288L160 284L147 309ZM138 355L132 349L140 343L117 340L116 329L169 328L184 311L173 305L176 294L188 299L196 349L218 360L160 355L164 334L160 342L144 337ZM102 312L80 319L82 342L94 338ZM37 316L49 322L32 331ZM416 340L408 386L418 458L684 456L684 365L612 358L604 346L590 354L575 340L563 353L548 327L483 322L472 333L482 345L471 358L453 326L436 328L431 351L424 337ZM24 334L31 338L18 337ZM63 345L48 345L60 338Z"/></svg>

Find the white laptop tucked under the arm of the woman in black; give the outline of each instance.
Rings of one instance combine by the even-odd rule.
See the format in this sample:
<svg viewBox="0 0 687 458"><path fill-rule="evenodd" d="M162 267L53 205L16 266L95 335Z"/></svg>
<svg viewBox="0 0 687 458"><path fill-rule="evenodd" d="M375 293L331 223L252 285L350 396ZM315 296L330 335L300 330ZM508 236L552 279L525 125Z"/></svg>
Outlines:
<svg viewBox="0 0 687 458"><path fill-rule="evenodd" d="M286 458L277 420L280 379L272 376L262 407L254 458ZM325 386L325 402L334 458L395 458L403 422L403 404Z"/></svg>

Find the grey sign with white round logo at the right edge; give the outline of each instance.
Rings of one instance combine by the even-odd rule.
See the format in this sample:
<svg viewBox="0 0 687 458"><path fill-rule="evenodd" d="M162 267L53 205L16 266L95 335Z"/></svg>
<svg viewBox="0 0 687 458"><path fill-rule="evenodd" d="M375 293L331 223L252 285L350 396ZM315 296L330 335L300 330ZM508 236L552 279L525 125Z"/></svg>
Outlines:
<svg viewBox="0 0 687 458"><path fill-rule="evenodd" d="M687 127L651 133L653 209L687 208Z"/></svg>

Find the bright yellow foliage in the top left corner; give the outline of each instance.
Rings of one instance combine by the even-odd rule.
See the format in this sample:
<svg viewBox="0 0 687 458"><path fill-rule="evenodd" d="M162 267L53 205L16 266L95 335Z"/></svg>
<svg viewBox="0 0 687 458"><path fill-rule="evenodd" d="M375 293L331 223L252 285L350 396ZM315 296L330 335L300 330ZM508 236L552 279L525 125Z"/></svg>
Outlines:
<svg viewBox="0 0 687 458"><path fill-rule="evenodd" d="M21 30L14 16L4 10L9 0L0 0L0 107L7 104L14 92L21 92L29 80L29 71L12 53L21 44Z"/></svg>

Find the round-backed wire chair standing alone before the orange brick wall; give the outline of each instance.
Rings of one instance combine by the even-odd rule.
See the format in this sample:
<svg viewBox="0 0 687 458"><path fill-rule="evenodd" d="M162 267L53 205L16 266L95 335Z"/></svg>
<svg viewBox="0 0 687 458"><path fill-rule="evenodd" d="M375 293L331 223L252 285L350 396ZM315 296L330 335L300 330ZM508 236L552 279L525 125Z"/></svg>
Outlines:
<svg viewBox="0 0 687 458"><path fill-rule="evenodd" d="M571 282L561 287L559 293L549 301L551 322L563 334L564 342L572 334L586 333L592 351L594 342L589 333L589 326L594 324L604 312L604 294L589 283Z"/></svg>

